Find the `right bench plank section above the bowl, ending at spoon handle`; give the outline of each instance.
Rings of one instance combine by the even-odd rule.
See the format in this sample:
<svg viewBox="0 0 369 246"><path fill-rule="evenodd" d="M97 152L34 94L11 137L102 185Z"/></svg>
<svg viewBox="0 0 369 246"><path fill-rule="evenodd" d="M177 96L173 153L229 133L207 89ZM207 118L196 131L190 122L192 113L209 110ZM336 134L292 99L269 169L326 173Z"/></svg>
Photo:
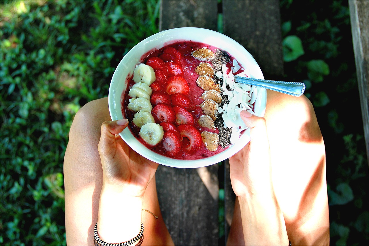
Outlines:
<svg viewBox="0 0 369 246"><path fill-rule="evenodd" d="M245 47L266 79L283 75L279 1L223 1L224 34Z"/></svg>

